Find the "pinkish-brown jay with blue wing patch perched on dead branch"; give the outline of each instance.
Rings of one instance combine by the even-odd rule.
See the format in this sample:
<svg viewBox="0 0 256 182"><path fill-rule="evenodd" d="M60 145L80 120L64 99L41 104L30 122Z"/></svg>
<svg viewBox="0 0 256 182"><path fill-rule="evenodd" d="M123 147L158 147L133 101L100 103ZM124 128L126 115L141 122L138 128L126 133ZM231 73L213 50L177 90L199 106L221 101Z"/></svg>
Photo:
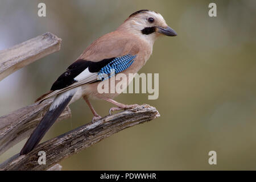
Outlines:
<svg viewBox="0 0 256 182"><path fill-rule="evenodd" d="M161 35L176 36L177 33L167 25L161 14L151 10L139 10L131 14L115 31L101 36L90 44L57 78L50 91L36 100L40 104L48 98L54 98L47 113L24 144L20 155L32 151L65 107L80 98L85 100L92 111L92 122L101 117L93 108L90 99L105 100L114 104L116 107L109 110L110 114L116 110L137 106L121 104L113 100L119 93L99 93L97 86L121 73L137 73L150 58L153 44ZM109 74L111 70L113 74ZM107 76L99 78L101 74Z"/></svg>

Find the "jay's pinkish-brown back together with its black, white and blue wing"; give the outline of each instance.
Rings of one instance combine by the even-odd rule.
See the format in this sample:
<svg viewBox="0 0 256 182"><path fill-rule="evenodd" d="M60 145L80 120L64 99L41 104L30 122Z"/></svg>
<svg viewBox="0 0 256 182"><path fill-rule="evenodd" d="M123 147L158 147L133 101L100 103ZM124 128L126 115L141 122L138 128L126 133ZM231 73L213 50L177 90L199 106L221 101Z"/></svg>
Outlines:
<svg viewBox="0 0 256 182"><path fill-rule="evenodd" d="M139 52L139 46L134 40L130 35L125 36L118 31L97 39L57 78L51 91L39 97L36 102L80 85L104 80L129 68ZM113 70L114 73L111 73Z"/></svg>

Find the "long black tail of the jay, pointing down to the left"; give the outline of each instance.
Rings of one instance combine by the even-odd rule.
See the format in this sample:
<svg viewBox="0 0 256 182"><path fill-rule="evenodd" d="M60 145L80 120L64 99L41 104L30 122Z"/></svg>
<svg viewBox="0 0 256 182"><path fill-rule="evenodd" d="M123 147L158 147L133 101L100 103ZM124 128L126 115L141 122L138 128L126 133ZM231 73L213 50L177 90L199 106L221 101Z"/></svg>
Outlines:
<svg viewBox="0 0 256 182"><path fill-rule="evenodd" d="M20 155L27 154L28 152L32 151L36 147L36 145L44 137L44 135L49 130L49 128L53 125L56 119L63 112L65 107L68 105L69 101L71 101L72 97L73 96L69 96L65 98L65 100L60 105L58 105L52 110L47 111L46 115L44 115L43 119L40 121L39 125L30 135L30 138L28 138L26 144L20 151Z"/></svg>

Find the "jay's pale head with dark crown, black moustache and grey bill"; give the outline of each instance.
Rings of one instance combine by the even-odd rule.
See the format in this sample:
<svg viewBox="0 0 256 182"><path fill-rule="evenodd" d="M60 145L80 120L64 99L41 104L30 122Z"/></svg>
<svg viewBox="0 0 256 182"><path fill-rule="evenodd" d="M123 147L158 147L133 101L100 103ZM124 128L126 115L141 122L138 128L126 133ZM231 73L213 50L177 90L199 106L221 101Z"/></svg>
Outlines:
<svg viewBox="0 0 256 182"><path fill-rule="evenodd" d="M121 28L152 40L155 40L159 35L177 35L172 28L168 27L162 15L150 10L139 10L131 14Z"/></svg>

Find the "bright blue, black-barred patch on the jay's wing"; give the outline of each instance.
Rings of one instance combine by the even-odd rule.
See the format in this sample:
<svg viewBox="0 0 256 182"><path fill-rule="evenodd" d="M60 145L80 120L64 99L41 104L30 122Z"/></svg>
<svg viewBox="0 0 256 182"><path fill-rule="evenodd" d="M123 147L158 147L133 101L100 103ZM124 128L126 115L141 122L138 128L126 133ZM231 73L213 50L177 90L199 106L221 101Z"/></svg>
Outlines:
<svg viewBox="0 0 256 182"><path fill-rule="evenodd" d="M122 57L116 57L105 67L101 68L98 72L98 80L107 80L108 78L117 75L117 73L124 71L134 63L134 59L137 55L125 55Z"/></svg>

